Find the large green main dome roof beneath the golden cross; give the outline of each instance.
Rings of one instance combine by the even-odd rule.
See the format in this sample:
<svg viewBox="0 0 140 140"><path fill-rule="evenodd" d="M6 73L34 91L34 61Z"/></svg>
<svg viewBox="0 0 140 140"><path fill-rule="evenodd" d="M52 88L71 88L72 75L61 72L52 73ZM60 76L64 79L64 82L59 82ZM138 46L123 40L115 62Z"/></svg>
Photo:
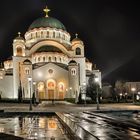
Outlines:
<svg viewBox="0 0 140 140"><path fill-rule="evenodd" d="M50 27L56 29L66 30L65 26L57 19L52 17L42 17L35 20L29 27L29 30L40 27Z"/></svg>

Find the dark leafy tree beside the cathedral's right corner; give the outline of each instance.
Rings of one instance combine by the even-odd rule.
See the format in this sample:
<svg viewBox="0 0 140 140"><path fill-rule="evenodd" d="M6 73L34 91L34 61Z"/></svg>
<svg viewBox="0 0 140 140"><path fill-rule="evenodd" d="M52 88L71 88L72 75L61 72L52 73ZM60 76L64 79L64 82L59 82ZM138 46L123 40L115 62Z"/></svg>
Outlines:
<svg viewBox="0 0 140 140"><path fill-rule="evenodd" d="M95 82L95 75L91 74L87 85L87 96L91 97L92 100L96 101L97 92L98 92L98 98L100 100L100 96L102 92L100 85L99 83Z"/></svg>

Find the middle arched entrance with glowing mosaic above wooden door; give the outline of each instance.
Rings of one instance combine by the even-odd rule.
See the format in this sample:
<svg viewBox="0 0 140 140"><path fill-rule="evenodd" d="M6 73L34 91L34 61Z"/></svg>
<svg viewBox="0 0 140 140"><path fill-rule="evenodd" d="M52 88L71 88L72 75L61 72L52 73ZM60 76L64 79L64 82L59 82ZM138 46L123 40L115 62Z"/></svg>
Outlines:
<svg viewBox="0 0 140 140"><path fill-rule="evenodd" d="M55 88L56 88L56 82L53 79L49 79L47 81L47 95L49 100L55 98Z"/></svg>

